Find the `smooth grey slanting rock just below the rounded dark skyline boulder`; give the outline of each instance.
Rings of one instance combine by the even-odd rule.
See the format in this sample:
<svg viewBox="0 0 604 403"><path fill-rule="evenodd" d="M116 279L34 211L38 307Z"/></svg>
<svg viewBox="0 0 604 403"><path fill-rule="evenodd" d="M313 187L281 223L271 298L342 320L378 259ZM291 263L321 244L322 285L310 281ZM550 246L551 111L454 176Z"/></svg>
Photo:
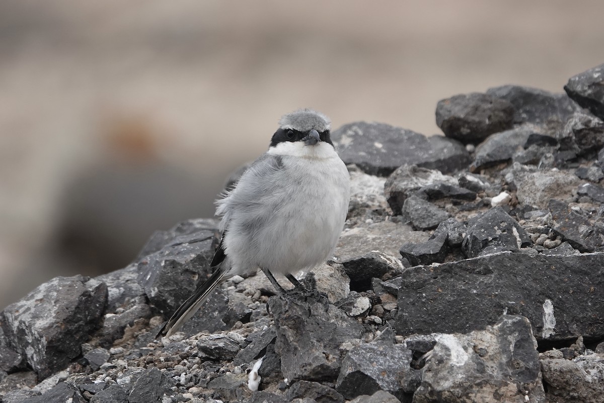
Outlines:
<svg viewBox="0 0 604 403"><path fill-rule="evenodd" d="M518 150L524 149L528 137L539 134L540 130L538 126L524 124L489 136L476 147L470 171L477 172L496 164L507 163Z"/></svg>

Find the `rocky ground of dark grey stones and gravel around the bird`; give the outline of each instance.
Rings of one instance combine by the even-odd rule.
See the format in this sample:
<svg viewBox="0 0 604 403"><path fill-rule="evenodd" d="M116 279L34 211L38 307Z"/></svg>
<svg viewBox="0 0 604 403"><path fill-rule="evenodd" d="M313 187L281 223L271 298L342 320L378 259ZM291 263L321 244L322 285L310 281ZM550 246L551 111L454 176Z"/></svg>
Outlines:
<svg viewBox="0 0 604 403"><path fill-rule="evenodd" d="M602 88L604 65L456 95L445 137L340 127L353 196L337 259L298 276L316 291L237 276L156 341L210 275L217 222L183 222L8 306L1 401L601 402Z"/></svg>

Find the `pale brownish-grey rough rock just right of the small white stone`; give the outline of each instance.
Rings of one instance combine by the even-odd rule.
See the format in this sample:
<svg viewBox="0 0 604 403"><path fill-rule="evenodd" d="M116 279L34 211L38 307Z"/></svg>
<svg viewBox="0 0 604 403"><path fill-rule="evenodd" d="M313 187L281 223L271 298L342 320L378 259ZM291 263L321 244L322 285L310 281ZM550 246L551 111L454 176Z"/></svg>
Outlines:
<svg viewBox="0 0 604 403"><path fill-rule="evenodd" d="M516 167L515 167L516 168ZM582 184L579 178L563 170L526 170L518 167L513 171L516 198L522 204L547 208L550 199L573 201L573 192Z"/></svg>

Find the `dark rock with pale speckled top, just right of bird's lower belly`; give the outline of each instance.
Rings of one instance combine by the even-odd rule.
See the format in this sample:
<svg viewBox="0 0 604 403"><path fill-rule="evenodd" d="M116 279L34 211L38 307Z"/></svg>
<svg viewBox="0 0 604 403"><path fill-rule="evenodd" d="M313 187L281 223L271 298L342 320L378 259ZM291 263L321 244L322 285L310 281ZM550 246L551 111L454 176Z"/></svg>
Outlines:
<svg viewBox="0 0 604 403"><path fill-rule="evenodd" d="M387 272L403 269L399 259L380 251L371 251L363 256L344 260L342 267L350 278L350 289L359 292L370 289L373 277L381 278Z"/></svg>

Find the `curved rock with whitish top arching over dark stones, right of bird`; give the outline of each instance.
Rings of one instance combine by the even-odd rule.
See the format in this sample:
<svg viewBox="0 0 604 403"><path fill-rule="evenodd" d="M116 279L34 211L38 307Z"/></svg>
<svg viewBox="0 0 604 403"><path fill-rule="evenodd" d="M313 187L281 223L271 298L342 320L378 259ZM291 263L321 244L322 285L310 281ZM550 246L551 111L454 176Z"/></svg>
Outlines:
<svg viewBox="0 0 604 403"><path fill-rule="evenodd" d="M401 214L405 200L427 185L445 183L457 185L457 179L443 175L437 170L403 165L388 176L384 193L394 214Z"/></svg>

